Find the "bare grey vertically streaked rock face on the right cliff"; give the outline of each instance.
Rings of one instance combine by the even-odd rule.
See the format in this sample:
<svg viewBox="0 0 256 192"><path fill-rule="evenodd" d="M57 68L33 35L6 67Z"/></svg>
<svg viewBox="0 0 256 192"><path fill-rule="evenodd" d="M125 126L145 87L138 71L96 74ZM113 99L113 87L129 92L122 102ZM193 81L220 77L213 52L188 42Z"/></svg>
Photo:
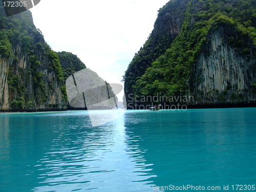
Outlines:
<svg viewBox="0 0 256 192"><path fill-rule="evenodd" d="M230 37L241 40L241 36L232 31L223 26L210 32L209 43L191 74L194 79L189 89L195 96L193 104L252 103L255 100L252 86L256 82L255 58L252 50L242 54L228 42ZM253 47L252 41L247 43Z"/></svg>

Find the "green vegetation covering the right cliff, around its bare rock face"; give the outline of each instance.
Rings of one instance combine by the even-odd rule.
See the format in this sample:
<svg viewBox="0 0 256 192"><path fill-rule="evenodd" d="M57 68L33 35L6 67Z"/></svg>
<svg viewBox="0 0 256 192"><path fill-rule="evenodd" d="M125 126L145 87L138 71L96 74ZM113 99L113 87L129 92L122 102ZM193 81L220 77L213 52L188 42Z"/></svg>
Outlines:
<svg viewBox="0 0 256 192"><path fill-rule="evenodd" d="M157 38L155 31L160 33L159 20L163 23L166 15L180 17L182 29L172 41L169 41L172 27L163 29L161 35L165 41L153 46L151 42ZM173 19L172 23L177 22ZM199 55L209 44L209 34L222 27L229 29L229 36L225 38L232 48L244 57L256 59L254 0L174 0L167 3L159 10L151 36L125 72L126 98L131 93L134 96L187 95L193 87L193 84L189 87L189 78ZM156 47L158 49L154 49ZM148 50L154 50L154 55ZM145 58L147 62L143 62Z"/></svg>

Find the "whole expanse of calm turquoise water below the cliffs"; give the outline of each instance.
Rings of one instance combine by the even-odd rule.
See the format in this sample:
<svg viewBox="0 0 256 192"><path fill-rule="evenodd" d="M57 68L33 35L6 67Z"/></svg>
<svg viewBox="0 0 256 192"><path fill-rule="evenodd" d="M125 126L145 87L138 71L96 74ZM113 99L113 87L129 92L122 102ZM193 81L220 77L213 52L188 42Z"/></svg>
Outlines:
<svg viewBox="0 0 256 192"><path fill-rule="evenodd" d="M0 191L256 185L255 114L126 111L94 127L87 111L0 114Z"/></svg>

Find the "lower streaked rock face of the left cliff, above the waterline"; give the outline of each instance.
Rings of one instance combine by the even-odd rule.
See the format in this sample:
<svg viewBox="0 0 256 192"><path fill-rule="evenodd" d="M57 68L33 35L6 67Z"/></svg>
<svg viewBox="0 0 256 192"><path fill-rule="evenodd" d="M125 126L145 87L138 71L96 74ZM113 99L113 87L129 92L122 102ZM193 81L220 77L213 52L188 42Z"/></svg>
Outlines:
<svg viewBox="0 0 256 192"><path fill-rule="evenodd" d="M51 60L44 51L35 52L28 55L21 44L16 44L10 57L0 59L0 110L67 109L67 101L61 90L64 84L51 68Z"/></svg>

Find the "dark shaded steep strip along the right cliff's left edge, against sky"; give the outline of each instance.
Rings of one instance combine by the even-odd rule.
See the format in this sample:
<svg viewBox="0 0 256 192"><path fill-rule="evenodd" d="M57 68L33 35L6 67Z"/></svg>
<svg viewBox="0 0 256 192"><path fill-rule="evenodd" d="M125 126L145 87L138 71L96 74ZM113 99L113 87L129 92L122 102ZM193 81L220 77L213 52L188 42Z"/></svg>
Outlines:
<svg viewBox="0 0 256 192"><path fill-rule="evenodd" d="M181 32L189 0L170 1L158 12L154 29L143 47L135 54L124 76L124 92L134 93L135 79L142 76L152 62L165 53Z"/></svg>

